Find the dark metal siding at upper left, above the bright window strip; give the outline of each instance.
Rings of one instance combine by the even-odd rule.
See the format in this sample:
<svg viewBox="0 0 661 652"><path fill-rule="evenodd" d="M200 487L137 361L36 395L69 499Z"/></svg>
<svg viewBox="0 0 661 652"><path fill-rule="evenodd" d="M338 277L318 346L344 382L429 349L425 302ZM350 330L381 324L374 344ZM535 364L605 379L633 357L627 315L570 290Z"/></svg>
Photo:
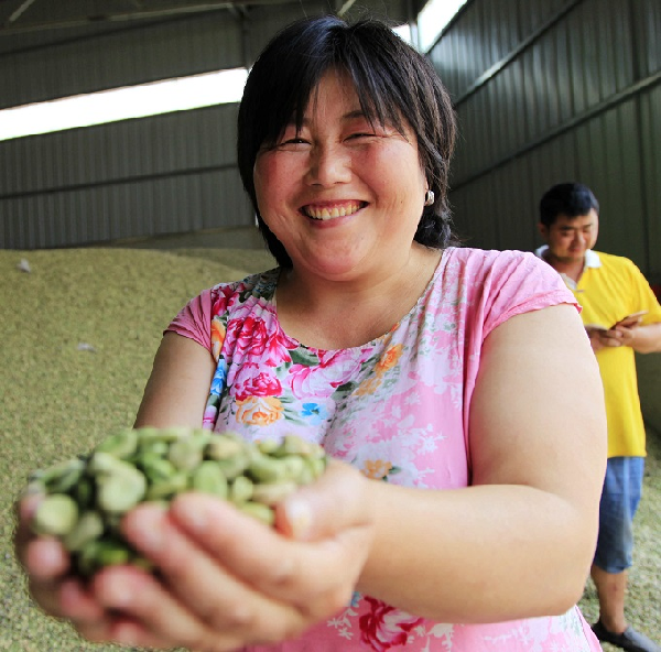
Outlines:
<svg viewBox="0 0 661 652"><path fill-rule="evenodd" d="M240 24L226 11L78 32L0 52L0 108L246 64Z"/></svg>

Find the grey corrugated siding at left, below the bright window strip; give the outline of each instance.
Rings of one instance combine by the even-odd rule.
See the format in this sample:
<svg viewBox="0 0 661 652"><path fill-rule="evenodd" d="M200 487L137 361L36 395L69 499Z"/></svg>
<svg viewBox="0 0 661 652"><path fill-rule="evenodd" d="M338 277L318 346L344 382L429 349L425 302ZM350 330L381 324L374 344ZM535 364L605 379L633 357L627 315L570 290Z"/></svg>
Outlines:
<svg viewBox="0 0 661 652"><path fill-rule="evenodd" d="M0 248L250 226L236 105L0 143Z"/></svg>

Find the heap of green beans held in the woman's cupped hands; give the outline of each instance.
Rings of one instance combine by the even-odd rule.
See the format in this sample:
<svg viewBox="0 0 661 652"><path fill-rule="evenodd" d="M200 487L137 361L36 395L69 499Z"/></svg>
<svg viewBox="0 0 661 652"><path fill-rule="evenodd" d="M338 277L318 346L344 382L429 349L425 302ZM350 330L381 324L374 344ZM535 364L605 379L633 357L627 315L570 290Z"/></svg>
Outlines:
<svg viewBox="0 0 661 652"><path fill-rule="evenodd" d="M274 506L325 468L324 449L294 435L249 443L202 428L127 428L88 455L31 474L26 491L45 493L31 526L62 541L83 577L112 564L150 569L119 531L140 502L203 491L272 525Z"/></svg>

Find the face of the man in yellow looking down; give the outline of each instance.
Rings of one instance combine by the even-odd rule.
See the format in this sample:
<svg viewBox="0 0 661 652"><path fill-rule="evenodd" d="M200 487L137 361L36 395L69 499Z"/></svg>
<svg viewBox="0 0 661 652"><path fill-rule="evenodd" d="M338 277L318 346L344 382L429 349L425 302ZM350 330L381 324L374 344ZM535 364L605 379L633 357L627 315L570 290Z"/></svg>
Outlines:
<svg viewBox="0 0 661 652"><path fill-rule="evenodd" d="M585 252L597 241L599 216L594 208L577 217L559 215L550 227L540 224L540 232L549 246L550 257L559 262L582 262Z"/></svg>

